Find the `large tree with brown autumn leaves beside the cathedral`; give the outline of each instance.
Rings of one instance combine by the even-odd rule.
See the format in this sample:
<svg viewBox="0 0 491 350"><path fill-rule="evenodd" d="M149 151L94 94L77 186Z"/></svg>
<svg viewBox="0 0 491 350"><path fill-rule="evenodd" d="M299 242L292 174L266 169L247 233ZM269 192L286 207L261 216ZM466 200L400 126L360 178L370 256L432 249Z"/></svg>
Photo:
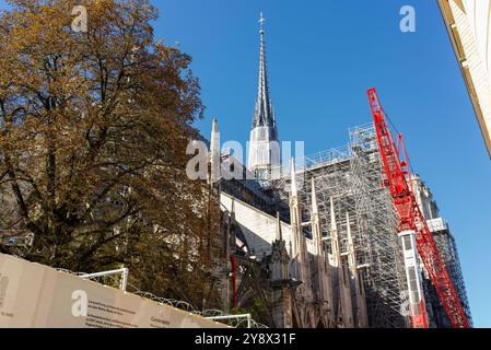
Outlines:
<svg viewBox="0 0 491 350"><path fill-rule="evenodd" d="M30 260L87 272L125 264L143 289L198 303L217 220L206 184L185 173L203 113L190 57L154 40L144 0L9 2L0 229L34 234ZM71 27L80 4L86 32Z"/></svg>

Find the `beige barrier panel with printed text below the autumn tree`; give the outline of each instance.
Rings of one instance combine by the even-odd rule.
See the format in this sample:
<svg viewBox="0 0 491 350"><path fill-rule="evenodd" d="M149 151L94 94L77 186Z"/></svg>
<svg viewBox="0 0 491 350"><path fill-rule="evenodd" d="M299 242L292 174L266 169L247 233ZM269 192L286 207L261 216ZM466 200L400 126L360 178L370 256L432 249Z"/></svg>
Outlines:
<svg viewBox="0 0 491 350"><path fill-rule="evenodd" d="M226 328L201 316L3 254L0 327Z"/></svg>

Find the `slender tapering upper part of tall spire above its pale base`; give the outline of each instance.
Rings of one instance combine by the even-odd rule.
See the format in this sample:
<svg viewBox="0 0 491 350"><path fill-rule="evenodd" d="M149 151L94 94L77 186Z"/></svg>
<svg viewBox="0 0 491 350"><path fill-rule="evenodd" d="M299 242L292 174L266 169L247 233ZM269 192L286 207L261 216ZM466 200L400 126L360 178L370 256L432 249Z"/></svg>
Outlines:
<svg viewBox="0 0 491 350"><path fill-rule="evenodd" d="M260 13L260 57L259 57L259 82L254 112L253 128L271 127L276 128L274 112L272 109L269 96L268 71L266 65L266 44L265 44L265 18Z"/></svg>

